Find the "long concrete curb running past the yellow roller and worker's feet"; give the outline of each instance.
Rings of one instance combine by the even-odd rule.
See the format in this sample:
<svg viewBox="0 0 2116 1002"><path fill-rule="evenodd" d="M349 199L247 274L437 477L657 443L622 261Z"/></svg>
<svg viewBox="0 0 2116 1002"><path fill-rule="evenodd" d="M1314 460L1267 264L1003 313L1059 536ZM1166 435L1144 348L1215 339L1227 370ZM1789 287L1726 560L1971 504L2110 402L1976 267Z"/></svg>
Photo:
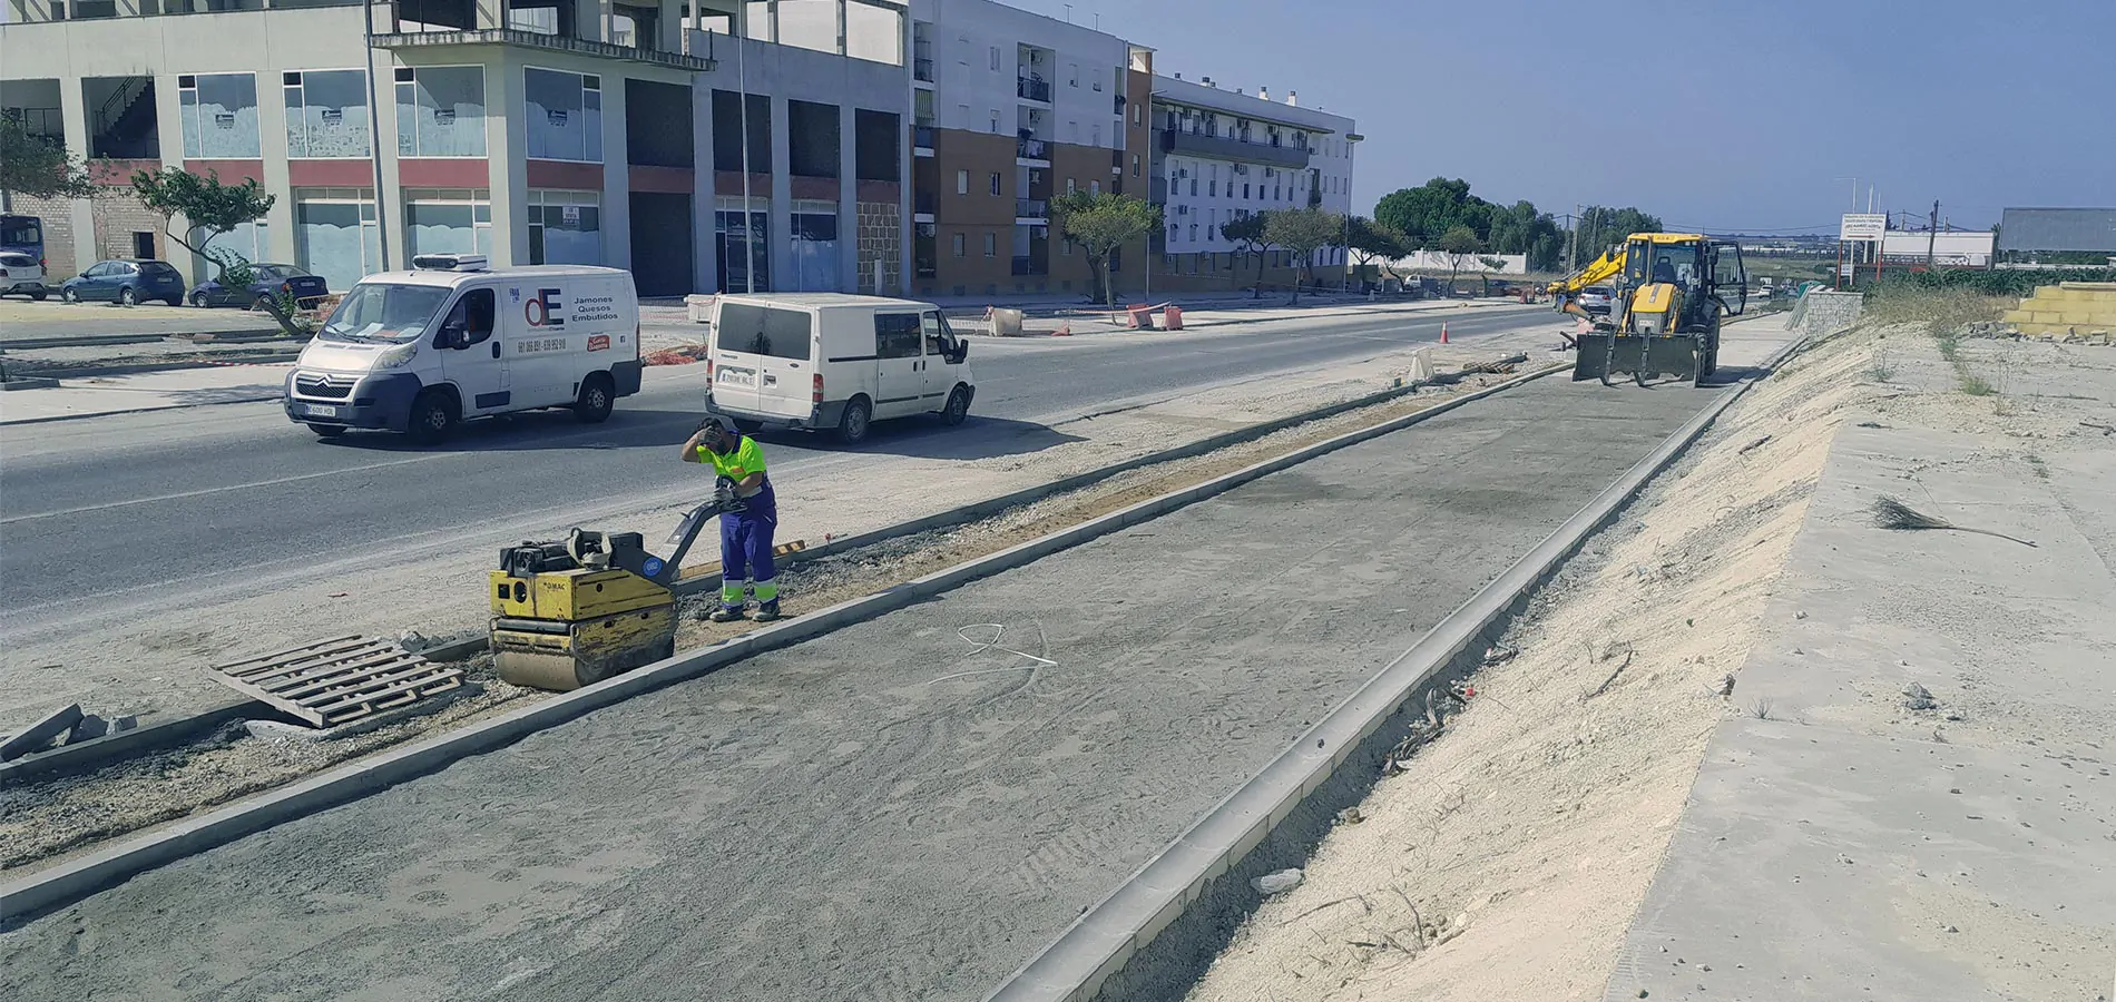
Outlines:
<svg viewBox="0 0 2116 1002"><path fill-rule="evenodd" d="M1041 556L1066 550L1119 528L1147 522L1166 512L1221 495L1265 474L1287 469L1295 463L1335 452L1339 448L1405 429L1420 421L1445 414L1464 404L1504 393L1534 378L1559 372L1557 366L1509 378L1475 393L1441 402L1416 414L1403 414L1380 425L1348 431L1344 435L1316 442L1301 450L1248 465L1234 474L1212 478L1183 490L1141 501L1107 516L1081 522L1071 528L1030 539L978 560L969 560L927 577L887 588L882 592L853 598L817 613L787 619L779 626L755 630L717 645L679 653L667 662L650 664L641 670L620 674L605 683L573 689L550 700L521 706L470 727L446 731L423 742L398 746L381 755L360 759L330 772L311 776L292 786L260 795L252 801L233 803L201 816L184 818L150 835L131 837L74 858L70 862L13 879L0 886L0 928L8 928L32 915L80 901L97 890L114 886L133 873L142 873L184 856L205 852L275 824L322 812L326 808L364 797L385 786L436 772L457 759L487 753L535 734L546 727L582 717L590 710L612 706L633 695L660 689L679 681L696 679L715 668L743 657L789 647L794 643L838 630L849 624L874 619L882 613L904 609L929 596L954 590L965 581L1028 564ZM872 535L872 533L870 533ZM853 537L857 539L857 537ZM851 545L846 541L844 545Z"/></svg>

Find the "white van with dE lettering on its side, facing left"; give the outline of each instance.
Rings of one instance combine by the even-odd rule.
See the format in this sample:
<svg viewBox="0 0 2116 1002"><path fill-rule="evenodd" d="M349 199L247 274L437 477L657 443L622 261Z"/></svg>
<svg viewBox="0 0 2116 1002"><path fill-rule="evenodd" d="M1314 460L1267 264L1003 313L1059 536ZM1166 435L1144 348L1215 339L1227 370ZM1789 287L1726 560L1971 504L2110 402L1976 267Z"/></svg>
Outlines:
<svg viewBox="0 0 2116 1002"><path fill-rule="evenodd" d="M419 256L360 279L286 376L286 416L446 438L468 416L573 408L609 416L639 393L639 296L618 268L487 268Z"/></svg>

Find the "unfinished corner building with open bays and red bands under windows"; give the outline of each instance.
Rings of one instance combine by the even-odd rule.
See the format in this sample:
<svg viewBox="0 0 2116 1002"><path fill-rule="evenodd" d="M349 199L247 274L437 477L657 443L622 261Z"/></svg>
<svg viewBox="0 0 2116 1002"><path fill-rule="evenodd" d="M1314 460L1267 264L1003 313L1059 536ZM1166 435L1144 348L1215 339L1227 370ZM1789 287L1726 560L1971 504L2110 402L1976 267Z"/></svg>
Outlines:
<svg viewBox="0 0 2116 1002"><path fill-rule="evenodd" d="M372 44L370 11L336 0L8 15L0 108L112 184L13 199L47 220L61 275L169 258L123 194L163 165L262 184L271 216L216 247L332 287L423 252L633 268L645 294L893 292L908 271L901 4L396 0L372 8Z"/></svg>

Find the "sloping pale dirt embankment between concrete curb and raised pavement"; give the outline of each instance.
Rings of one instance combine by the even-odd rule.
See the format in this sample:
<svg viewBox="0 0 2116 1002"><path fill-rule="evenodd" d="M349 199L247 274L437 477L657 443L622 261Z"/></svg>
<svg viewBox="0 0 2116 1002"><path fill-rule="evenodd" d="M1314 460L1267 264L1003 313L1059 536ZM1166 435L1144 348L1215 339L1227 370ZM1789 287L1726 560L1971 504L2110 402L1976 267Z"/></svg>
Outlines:
<svg viewBox="0 0 2116 1002"><path fill-rule="evenodd" d="M1193 1002L1600 998L1868 376L1792 359L1536 594L1445 731L1265 901Z"/></svg>

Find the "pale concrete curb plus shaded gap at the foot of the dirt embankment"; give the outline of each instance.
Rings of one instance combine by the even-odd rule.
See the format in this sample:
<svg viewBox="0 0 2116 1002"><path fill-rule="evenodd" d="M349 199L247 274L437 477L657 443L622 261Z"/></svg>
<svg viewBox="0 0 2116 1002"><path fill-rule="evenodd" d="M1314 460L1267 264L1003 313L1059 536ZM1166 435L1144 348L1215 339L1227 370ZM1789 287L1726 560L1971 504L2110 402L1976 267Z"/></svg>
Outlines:
<svg viewBox="0 0 2116 1002"><path fill-rule="evenodd" d="M1805 342L1763 364L1769 374ZM1758 376L1761 378L1761 376ZM1530 596L1667 469L1756 381L1720 395L1595 495L1496 581L1441 619L1291 748L1229 793L1174 843L1075 920L1050 947L992 989L986 1002L1090 1002L1170 998L1219 955L1261 901L1251 879L1303 865L1335 814L1358 803L1413 719L1416 698L1466 676ZM1166 934L1164 932L1174 932Z"/></svg>

